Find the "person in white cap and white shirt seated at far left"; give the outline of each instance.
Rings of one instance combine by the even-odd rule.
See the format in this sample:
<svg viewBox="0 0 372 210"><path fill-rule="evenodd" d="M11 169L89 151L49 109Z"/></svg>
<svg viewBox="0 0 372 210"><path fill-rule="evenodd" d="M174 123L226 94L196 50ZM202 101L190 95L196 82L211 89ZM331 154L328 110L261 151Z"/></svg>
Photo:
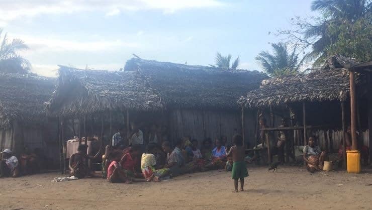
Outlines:
<svg viewBox="0 0 372 210"><path fill-rule="evenodd" d="M19 161L16 156L12 156L12 150L5 149L2 152L3 159L0 162L0 177L19 176Z"/></svg>

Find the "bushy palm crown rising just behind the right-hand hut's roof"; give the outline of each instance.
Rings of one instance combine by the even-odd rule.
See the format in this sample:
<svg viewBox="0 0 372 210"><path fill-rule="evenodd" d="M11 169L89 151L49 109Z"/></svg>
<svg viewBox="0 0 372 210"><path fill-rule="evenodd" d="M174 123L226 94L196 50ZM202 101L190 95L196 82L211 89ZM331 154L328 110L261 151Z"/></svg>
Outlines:
<svg viewBox="0 0 372 210"><path fill-rule="evenodd" d="M296 47L289 52L285 43L272 43L271 47L273 53L261 51L255 57L259 64L261 64L263 71L270 76L278 76L283 74L298 73L301 68L304 58L299 60L299 53Z"/></svg>

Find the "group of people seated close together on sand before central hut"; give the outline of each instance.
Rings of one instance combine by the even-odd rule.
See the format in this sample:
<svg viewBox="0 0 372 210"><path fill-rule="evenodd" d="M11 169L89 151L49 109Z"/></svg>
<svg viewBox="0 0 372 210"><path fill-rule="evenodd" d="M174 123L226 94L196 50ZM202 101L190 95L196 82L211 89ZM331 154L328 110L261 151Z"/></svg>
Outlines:
<svg viewBox="0 0 372 210"><path fill-rule="evenodd" d="M103 176L110 182L160 181L184 173L225 168L226 148L219 139L211 148L211 139L203 141L183 138L172 147L170 142L149 143L142 153L140 145L125 149L107 148ZM142 153L142 154L141 154ZM106 156L107 155L107 156Z"/></svg>

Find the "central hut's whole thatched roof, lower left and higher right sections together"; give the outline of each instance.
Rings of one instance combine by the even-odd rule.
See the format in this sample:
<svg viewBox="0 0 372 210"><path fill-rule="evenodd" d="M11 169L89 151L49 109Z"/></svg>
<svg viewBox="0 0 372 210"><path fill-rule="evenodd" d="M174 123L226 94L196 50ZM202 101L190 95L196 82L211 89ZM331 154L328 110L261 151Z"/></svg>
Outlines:
<svg viewBox="0 0 372 210"><path fill-rule="evenodd" d="M236 98L267 76L258 71L223 70L133 58L124 71L60 66L52 112L169 108L238 108Z"/></svg>

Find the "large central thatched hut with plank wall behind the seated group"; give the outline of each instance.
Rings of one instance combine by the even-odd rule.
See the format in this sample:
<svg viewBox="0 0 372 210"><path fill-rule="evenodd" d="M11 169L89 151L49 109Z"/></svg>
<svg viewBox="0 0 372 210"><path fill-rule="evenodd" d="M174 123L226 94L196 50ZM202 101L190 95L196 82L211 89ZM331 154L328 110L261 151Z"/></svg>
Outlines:
<svg viewBox="0 0 372 210"><path fill-rule="evenodd" d="M64 116L106 113L106 119L112 116L113 121L110 132L105 132L110 135L115 125L141 121L163 124L170 140L184 136L198 140L227 136L230 140L241 132L236 98L265 78L258 71L137 58L129 60L123 71L60 66L49 111ZM249 114L247 124L254 125Z"/></svg>

